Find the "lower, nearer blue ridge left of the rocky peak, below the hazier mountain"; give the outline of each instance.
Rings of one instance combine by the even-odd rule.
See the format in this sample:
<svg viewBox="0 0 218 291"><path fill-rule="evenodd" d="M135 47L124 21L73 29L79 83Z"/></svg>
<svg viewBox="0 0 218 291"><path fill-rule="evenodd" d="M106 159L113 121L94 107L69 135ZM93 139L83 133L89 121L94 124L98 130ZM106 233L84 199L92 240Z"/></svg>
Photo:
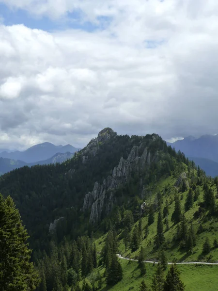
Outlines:
<svg viewBox="0 0 218 291"><path fill-rule="evenodd" d="M23 166L34 166L34 165L48 165L52 163L62 163L65 162L68 159L71 159L74 156L74 154L70 152L66 152L64 154L57 153L50 159L47 159L45 161L38 161L38 162L32 162L32 163L26 163L23 161L16 161L16 160L11 160L7 158L0 158L0 175L3 175L7 172L10 172L12 170L15 170L17 168L21 168Z"/></svg>

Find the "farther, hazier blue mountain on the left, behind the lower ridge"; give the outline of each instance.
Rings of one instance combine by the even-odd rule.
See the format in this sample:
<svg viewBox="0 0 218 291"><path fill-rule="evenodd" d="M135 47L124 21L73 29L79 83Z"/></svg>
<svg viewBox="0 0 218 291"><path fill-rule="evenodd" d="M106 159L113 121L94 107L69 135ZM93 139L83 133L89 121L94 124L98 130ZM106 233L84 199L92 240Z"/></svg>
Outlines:
<svg viewBox="0 0 218 291"><path fill-rule="evenodd" d="M57 153L75 153L78 148L66 145L66 146L55 146L51 143L43 143L35 146L31 146L25 151L15 151L15 152L6 152L3 151L0 153L1 158L7 158L11 160L20 160L27 163L33 163L38 161L45 161L50 159Z"/></svg>

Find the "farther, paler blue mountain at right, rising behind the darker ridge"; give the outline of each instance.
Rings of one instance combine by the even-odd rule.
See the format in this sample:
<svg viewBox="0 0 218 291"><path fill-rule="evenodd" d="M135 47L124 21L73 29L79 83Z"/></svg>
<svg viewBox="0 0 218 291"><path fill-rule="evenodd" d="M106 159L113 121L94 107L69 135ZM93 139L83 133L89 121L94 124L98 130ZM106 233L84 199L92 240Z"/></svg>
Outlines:
<svg viewBox="0 0 218 291"><path fill-rule="evenodd" d="M218 135L202 135L200 138L189 136L175 143L168 143L175 150L182 151L188 157L205 158L218 162Z"/></svg>

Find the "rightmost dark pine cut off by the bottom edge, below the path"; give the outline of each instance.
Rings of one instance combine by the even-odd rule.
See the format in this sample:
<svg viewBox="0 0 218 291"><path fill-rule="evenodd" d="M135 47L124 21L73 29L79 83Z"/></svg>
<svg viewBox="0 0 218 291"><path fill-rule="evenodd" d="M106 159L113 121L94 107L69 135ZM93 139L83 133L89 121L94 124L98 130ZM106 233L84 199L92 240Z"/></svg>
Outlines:
<svg viewBox="0 0 218 291"><path fill-rule="evenodd" d="M172 264L164 282L164 291L184 291L185 285L180 279L180 272L176 264Z"/></svg>

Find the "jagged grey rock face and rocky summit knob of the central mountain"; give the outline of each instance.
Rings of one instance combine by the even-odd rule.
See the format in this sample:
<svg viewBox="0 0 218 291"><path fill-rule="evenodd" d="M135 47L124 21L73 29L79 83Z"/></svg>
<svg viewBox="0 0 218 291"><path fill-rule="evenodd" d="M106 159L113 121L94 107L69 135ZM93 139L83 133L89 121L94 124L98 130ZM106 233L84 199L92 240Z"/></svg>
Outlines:
<svg viewBox="0 0 218 291"><path fill-rule="evenodd" d="M115 134L109 129L103 129L97 139L107 140ZM126 160L121 157L119 164L111 171L111 175L104 179L103 184L95 182L93 191L85 195L83 211L91 208L90 222L94 224L100 220L103 213L109 214L116 203L115 189L127 182L133 170L140 171L149 167L150 163L157 159L158 153L151 154L147 147L143 149L143 145L133 146Z"/></svg>

